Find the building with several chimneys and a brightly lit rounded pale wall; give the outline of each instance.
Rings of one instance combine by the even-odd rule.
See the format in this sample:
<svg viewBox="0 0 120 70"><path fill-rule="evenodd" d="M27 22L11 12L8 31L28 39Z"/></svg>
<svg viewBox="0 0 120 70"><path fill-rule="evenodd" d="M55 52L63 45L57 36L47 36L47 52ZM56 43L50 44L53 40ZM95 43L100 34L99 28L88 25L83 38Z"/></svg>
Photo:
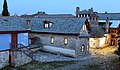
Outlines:
<svg viewBox="0 0 120 70"><path fill-rule="evenodd" d="M76 8L76 17L86 17L90 22L90 27L92 29L90 32L91 37L89 41L90 47L101 48L109 46L111 36L108 32L112 23L109 22L107 17L105 22L103 22L100 20L101 17L99 16L99 13L94 12L93 8L80 11L79 7Z"/></svg>

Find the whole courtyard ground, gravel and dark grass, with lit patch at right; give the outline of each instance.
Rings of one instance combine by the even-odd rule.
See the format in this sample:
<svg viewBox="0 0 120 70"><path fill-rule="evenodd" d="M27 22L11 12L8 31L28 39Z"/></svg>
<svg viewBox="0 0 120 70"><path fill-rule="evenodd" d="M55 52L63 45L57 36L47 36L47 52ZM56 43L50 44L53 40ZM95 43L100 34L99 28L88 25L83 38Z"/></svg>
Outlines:
<svg viewBox="0 0 120 70"><path fill-rule="evenodd" d="M90 56L82 58L69 58L62 55L36 52L34 59L40 63L30 63L16 70L120 70L119 56L114 54L115 50L116 47L113 46L103 49L90 49ZM66 62L71 60L75 62Z"/></svg>

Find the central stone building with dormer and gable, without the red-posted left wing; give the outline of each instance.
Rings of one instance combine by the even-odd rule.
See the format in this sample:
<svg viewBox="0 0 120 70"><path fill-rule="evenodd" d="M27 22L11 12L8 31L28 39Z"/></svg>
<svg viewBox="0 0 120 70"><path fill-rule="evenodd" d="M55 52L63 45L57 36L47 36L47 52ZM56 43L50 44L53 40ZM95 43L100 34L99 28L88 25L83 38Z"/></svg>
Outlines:
<svg viewBox="0 0 120 70"><path fill-rule="evenodd" d="M29 20L31 44L74 50L74 57L89 53L90 25L86 18L39 17Z"/></svg>

